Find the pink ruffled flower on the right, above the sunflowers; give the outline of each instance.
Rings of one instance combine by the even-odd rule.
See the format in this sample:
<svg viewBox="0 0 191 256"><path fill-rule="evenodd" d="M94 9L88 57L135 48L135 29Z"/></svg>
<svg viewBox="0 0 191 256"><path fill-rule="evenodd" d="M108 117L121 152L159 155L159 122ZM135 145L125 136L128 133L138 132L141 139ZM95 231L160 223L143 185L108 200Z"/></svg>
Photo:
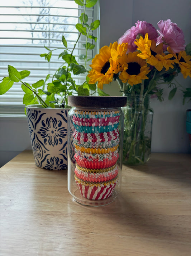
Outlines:
<svg viewBox="0 0 191 256"><path fill-rule="evenodd" d="M164 42L164 51L167 50L168 46L174 53L185 50L184 34L176 23L171 22L170 19L167 19L167 21L161 20L158 22L158 27L160 30L157 31L160 36L158 37L157 45Z"/></svg>

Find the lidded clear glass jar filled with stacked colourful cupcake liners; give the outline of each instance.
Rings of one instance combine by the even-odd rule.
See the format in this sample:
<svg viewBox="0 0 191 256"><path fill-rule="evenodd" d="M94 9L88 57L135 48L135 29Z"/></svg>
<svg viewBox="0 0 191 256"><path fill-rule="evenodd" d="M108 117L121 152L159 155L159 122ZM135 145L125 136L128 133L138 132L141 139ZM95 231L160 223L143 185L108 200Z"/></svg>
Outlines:
<svg viewBox="0 0 191 256"><path fill-rule="evenodd" d="M120 193L122 96L68 96L68 190L82 205L102 206Z"/></svg>

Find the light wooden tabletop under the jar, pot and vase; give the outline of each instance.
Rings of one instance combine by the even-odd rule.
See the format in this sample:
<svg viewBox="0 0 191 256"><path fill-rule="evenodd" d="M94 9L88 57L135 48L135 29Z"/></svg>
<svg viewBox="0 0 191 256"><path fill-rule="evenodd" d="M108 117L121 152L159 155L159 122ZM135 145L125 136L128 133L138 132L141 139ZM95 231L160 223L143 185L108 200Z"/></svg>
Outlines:
<svg viewBox="0 0 191 256"><path fill-rule="evenodd" d="M123 166L120 195L101 207L73 201L67 170L38 168L32 151L0 175L1 256L191 255L190 154Z"/></svg>

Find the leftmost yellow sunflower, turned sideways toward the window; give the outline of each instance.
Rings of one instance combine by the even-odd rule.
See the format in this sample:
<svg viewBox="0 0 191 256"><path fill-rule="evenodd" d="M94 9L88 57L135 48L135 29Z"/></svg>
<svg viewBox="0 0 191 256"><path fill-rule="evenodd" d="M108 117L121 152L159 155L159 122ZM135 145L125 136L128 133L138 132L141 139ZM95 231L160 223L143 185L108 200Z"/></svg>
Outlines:
<svg viewBox="0 0 191 256"><path fill-rule="evenodd" d="M87 75L90 80L89 84L97 83L97 87L103 89L103 84L109 84L113 80L114 72L112 72L110 67L111 49L117 48L118 43L110 44L110 46L103 46L100 49L99 54L96 54L94 59L92 59L92 68Z"/></svg>

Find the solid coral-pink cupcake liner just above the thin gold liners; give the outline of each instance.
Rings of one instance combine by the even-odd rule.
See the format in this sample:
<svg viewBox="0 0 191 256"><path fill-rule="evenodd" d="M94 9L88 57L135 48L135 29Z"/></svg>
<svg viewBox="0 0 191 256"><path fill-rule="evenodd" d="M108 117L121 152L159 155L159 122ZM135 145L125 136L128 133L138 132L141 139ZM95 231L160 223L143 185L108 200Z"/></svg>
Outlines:
<svg viewBox="0 0 191 256"><path fill-rule="evenodd" d="M104 158L102 161L100 161L99 159L87 160L86 158L80 157L77 154L75 154L74 157L77 164L83 168L103 169L115 165L119 158L119 154L117 154L115 157L112 157L111 159Z"/></svg>

